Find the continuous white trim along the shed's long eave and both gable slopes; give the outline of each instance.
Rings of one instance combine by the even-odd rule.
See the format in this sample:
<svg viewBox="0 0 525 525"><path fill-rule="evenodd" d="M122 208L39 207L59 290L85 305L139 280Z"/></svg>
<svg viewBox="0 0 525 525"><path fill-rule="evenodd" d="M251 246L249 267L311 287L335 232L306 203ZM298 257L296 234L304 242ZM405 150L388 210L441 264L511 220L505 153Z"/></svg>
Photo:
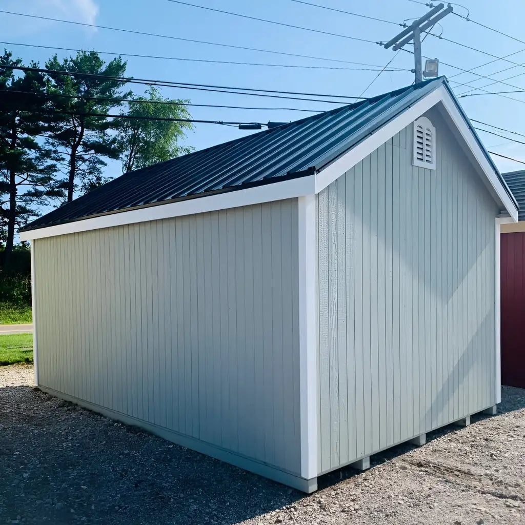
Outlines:
<svg viewBox="0 0 525 525"><path fill-rule="evenodd" d="M236 190L228 193L195 197L186 201L159 204L156 206L116 212L99 217L79 219L71 223L29 230L27 232L20 232L20 240L66 235L99 228L109 228L112 226L140 223L148 220L211 212L218 209L249 206L251 204L260 204L263 202L278 201L286 198L302 197L304 195L319 193L343 173L351 169L351 167L355 166L355 164L363 160L367 155L379 148L379 146L384 144L388 139L392 138L396 133L400 132L403 128L420 117L425 111L434 107L439 102L442 103L447 116L453 122L458 137L463 139L465 149L471 154L472 160L476 162L481 172L485 175L487 185L500 199L502 205L512 218L512 222L517 222L518 208L512 202L505 186L503 186L498 175L493 170L492 165L487 160L484 151L481 149L475 138L475 135L465 122L461 112L458 110L456 102L451 97L446 87L441 85L422 99L415 102L411 107L405 109L390 122L387 122L381 128L373 132L370 137L367 137L362 142L355 145L350 151L340 156L339 159L319 170L315 175L307 175L288 181L269 183L263 186L246 188L246 190Z"/></svg>

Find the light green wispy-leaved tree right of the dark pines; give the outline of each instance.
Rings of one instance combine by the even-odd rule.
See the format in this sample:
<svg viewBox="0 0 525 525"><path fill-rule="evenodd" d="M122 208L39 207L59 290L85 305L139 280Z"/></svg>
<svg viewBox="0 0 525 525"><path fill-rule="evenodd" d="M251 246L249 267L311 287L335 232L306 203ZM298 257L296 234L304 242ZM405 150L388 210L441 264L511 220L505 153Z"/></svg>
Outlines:
<svg viewBox="0 0 525 525"><path fill-rule="evenodd" d="M154 87L150 87L146 95L147 97L135 97L133 102L128 103L127 111L121 114L161 119L191 118L184 105L187 100L164 99ZM184 138L186 130L191 129L191 122L121 119L118 145L122 150L122 172L128 173L190 153L193 149L184 148L177 141Z"/></svg>

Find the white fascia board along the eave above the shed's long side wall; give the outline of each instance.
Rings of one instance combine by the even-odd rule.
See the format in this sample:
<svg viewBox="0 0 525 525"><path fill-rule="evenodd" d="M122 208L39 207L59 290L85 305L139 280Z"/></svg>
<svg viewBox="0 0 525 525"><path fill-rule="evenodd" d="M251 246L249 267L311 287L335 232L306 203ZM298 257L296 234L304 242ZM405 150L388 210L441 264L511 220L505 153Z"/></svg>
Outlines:
<svg viewBox="0 0 525 525"><path fill-rule="evenodd" d="M122 226L124 224L143 223L148 220L159 220L170 217L181 217L195 213L214 212L218 209L237 208L264 202L280 201L281 199L313 194L315 175L292 178L288 181L264 184L216 195L196 197L186 201L159 204L145 208L132 209L126 212L111 213L99 217L75 220L66 224L48 226L20 232L20 240L41 239L70 233L86 232L88 230Z"/></svg>

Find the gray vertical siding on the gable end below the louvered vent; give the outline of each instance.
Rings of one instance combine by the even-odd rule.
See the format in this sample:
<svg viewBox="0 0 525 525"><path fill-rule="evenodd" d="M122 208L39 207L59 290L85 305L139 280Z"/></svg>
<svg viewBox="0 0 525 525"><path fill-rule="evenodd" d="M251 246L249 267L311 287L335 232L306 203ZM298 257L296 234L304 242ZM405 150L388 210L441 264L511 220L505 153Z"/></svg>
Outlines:
<svg viewBox="0 0 525 525"><path fill-rule="evenodd" d="M499 211L427 116L436 171L409 125L318 196L319 472L496 402Z"/></svg>

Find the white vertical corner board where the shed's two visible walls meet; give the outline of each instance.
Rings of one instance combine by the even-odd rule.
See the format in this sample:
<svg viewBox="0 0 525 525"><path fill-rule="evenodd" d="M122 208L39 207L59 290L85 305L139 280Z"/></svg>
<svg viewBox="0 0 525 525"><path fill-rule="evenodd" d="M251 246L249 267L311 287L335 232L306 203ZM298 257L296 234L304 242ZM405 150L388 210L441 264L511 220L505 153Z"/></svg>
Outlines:
<svg viewBox="0 0 525 525"><path fill-rule="evenodd" d="M316 197L299 197L299 392L301 476L317 477Z"/></svg>

